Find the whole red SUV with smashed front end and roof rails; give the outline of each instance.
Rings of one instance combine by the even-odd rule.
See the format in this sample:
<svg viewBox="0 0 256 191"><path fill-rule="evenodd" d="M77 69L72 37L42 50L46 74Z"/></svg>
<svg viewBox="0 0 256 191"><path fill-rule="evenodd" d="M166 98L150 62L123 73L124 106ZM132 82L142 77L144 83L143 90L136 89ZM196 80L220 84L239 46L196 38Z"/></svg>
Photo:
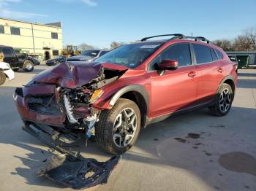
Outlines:
<svg viewBox="0 0 256 191"><path fill-rule="evenodd" d="M172 114L208 107L230 111L236 64L204 37L125 44L94 62L66 62L43 71L14 93L24 129L73 143L95 136L119 155L135 144L140 128Z"/></svg>

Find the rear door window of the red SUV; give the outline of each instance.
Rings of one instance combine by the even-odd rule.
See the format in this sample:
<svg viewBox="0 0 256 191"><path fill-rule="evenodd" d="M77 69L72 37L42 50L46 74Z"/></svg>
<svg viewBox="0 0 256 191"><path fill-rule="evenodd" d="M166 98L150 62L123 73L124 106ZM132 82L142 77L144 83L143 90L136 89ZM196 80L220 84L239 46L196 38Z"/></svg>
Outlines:
<svg viewBox="0 0 256 191"><path fill-rule="evenodd" d="M211 50L209 47L200 44L193 44L197 64L212 62Z"/></svg>

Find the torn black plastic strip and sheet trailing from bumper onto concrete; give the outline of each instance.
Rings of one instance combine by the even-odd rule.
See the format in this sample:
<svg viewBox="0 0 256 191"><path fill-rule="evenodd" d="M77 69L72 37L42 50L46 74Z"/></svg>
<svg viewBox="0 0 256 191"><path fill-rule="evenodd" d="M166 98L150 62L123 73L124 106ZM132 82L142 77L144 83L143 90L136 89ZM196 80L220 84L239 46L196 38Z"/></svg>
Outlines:
<svg viewBox="0 0 256 191"><path fill-rule="evenodd" d="M98 162L95 159L82 157L79 152L64 149L53 141L48 141L44 136L46 132L37 125L26 125L23 130L42 141L50 149L61 153L61 155L50 157L46 168L41 168L38 175L46 176L66 187L80 190L106 184L113 168L121 159L121 157L111 157L105 162Z"/></svg>

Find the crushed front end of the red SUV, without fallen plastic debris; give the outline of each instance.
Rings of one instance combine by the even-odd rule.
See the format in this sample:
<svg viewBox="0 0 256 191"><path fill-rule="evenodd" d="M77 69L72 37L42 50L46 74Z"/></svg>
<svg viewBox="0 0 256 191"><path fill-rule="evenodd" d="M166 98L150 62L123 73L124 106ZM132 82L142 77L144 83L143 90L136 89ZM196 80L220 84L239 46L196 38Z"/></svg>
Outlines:
<svg viewBox="0 0 256 191"><path fill-rule="evenodd" d="M25 125L48 125L61 137L83 133L89 139L99 119L93 104L104 93L101 87L125 71L109 63L61 63L18 87L13 98Z"/></svg>

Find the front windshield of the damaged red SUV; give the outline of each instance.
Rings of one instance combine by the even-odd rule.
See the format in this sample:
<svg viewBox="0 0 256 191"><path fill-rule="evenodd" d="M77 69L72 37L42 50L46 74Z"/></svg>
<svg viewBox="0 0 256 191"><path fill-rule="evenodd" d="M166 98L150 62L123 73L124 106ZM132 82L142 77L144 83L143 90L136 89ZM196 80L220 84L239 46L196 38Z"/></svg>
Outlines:
<svg viewBox="0 0 256 191"><path fill-rule="evenodd" d="M102 57L97 58L95 61L116 63L129 68L135 68L143 63L161 44L159 42L126 44L102 55Z"/></svg>

